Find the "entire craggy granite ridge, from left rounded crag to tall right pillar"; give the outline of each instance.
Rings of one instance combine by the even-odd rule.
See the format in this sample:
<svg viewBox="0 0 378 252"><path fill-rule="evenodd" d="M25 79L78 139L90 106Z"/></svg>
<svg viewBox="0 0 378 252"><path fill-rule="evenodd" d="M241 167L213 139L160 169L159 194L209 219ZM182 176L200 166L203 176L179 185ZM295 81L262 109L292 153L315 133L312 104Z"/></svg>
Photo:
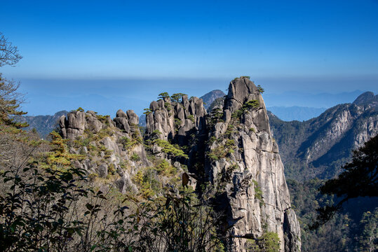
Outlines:
<svg viewBox="0 0 378 252"><path fill-rule="evenodd" d="M117 111L112 120L79 109L60 118L60 130L63 138L80 140L70 151L86 158L76 167L100 177L119 174L121 192L137 193L131 178L151 165L149 155L182 174L187 167L189 184L198 192L210 183L215 211L224 213L217 232L229 237L233 251L246 251L249 239L266 232L278 235L280 251L300 251L299 223L260 92L248 77L236 78L223 104L210 113L202 99L180 94L173 101L163 94L146 109L143 136L130 110Z"/></svg>

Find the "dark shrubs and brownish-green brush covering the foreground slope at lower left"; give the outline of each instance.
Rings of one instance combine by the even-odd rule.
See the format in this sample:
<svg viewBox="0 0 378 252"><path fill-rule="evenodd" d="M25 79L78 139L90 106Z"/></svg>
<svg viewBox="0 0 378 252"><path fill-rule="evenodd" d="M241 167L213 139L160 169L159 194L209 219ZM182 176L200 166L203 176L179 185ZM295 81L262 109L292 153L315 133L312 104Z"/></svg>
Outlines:
<svg viewBox="0 0 378 252"><path fill-rule="evenodd" d="M80 156L67 156L64 141L53 134L50 151L1 172L0 251L222 249L210 197L172 187L155 200L117 202L70 167Z"/></svg>

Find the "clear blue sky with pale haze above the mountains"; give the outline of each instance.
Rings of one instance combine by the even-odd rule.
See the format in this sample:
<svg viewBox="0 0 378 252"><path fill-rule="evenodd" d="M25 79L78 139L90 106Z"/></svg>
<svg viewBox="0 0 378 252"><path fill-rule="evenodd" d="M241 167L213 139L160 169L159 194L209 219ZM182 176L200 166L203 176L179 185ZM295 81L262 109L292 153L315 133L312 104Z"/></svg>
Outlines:
<svg viewBox="0 0 378 252"><path fill-rule="evenodd" d="M378 91L377 0L2 0L0 24L24 57L0 71L22 80L32 114L139 112L158 92L201 96L241 75L269 95Z"/></svg>

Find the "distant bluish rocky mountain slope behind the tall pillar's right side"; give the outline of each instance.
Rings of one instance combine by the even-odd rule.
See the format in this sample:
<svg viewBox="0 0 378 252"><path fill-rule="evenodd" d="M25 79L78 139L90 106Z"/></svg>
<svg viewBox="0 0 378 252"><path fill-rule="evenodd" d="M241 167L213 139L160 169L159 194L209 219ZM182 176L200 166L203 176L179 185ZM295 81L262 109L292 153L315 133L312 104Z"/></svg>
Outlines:
<svg viewBox="0 0 378 252"><path fill-rule="evenodd" d="M330 179L353 149L378 134L377 95L365 92L305 122L283 122L271 113L269 119L290 178Z"/></svg>

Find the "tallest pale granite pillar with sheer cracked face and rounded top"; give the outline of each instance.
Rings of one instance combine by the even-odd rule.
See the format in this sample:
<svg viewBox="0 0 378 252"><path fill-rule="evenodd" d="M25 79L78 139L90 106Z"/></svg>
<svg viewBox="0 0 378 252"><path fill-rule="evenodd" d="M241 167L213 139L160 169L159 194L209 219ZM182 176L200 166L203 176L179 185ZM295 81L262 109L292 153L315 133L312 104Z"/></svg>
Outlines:
<svg viewBox="0 0 378 252"><path fill-rule="evenodd" d="M230 83L223 117L212 123L205 171L212 183L224 186L236 251L245 250L245 240L237 237L258 238L266 231L278 234L281 251L300 251L300 228L290 207L283 163L264 100L252 81L236 78Z"/></svg>

